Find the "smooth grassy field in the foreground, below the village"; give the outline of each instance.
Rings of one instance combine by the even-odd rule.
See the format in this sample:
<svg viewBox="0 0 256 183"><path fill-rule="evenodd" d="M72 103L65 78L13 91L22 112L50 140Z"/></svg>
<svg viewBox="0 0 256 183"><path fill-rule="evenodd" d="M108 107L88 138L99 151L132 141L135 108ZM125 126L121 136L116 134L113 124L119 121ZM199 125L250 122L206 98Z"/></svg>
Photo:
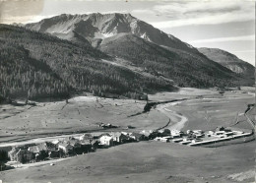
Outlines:
<svg viewBox="0 0 256 183"><path fill-rule="evenodd" d="M235 182L231 177L253 182L254 151L255 142L217 149L140 142L79 155L54 166L9 170L0 177L4 182ZM238 176L242 172L248 175Z"/></svg>

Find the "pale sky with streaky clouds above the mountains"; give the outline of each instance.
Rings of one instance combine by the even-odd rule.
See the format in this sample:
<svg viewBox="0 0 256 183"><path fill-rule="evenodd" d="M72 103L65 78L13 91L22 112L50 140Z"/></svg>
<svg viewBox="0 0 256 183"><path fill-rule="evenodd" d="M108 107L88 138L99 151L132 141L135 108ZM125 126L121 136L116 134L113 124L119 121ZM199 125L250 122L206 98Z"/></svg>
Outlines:
<svg viewBox="0 0 256 183"><path fill-rule="evenodd" d="M0 0L0 23L60 14L130 13L195 47L221 48L255 65L254 0Z"/></svg>

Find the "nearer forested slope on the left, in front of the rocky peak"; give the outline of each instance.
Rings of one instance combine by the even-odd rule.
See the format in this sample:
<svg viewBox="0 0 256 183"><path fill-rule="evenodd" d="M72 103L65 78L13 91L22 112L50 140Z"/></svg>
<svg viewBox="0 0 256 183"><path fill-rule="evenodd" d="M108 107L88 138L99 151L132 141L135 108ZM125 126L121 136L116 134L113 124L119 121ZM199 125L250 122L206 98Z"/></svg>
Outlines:
<svg viewBox="0 0 256 183"><path fill-rule="evenodd" d="M90 91L139 97L142 91L172 91L161 78L111 64L91 45L8 25L0 25L0 95L64 96Z"/></svg>

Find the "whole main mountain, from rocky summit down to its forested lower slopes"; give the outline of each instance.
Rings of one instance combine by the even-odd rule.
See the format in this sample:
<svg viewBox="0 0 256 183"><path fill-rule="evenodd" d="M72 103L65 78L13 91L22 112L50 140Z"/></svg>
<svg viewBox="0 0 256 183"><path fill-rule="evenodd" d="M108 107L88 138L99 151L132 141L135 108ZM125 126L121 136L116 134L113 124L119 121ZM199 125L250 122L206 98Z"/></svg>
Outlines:
<svg viewBox="0 0 256 183"><path fill-rule="evenodd" d="M4 96L90 91L139 98L176 86L252 82L130 14L60 15L24 28L0 25L0 43Z"/></svg>

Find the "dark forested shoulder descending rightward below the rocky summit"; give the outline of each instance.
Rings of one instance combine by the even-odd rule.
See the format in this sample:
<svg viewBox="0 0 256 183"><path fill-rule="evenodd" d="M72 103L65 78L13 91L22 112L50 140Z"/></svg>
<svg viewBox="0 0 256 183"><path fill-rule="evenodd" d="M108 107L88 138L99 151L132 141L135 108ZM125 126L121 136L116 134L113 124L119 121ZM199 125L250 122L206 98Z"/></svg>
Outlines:
<svg viewBox="0 0 256 183"><path fill-rule="evenodd" d="M127 59L150 73L172 79L179 87L230 87L241 81L235 73L200 53L163 48L131 33L105 38L98 48Z"/></svg>

